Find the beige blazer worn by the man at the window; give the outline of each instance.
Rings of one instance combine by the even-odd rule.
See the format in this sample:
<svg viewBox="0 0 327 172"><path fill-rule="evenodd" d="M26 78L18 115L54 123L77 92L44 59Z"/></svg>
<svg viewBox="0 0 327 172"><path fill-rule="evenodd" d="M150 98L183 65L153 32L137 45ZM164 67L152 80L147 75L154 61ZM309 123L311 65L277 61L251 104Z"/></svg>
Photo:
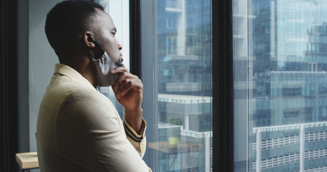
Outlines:
<svg viewBox="0 0 327 172"><path fill-rule="evenodd" d="M73 68L56 64L37 121L41 172L150 171L141 135L121 121L112 102Z"/></svg>

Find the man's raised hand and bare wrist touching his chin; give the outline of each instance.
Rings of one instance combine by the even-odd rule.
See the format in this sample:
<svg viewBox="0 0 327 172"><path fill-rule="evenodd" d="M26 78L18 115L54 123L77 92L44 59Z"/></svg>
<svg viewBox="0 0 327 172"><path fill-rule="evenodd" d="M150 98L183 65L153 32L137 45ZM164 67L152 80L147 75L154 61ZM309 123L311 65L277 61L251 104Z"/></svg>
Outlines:
<svg viewBox="0 0 327 172"><path fill-rule="evenodd" d="M129 125L140 134L143 110L143 84L136 75L129 73L126 67L116 67L110 73L118 74L115 83L111 86L118 103L123 105L125 119Z"/></svg>

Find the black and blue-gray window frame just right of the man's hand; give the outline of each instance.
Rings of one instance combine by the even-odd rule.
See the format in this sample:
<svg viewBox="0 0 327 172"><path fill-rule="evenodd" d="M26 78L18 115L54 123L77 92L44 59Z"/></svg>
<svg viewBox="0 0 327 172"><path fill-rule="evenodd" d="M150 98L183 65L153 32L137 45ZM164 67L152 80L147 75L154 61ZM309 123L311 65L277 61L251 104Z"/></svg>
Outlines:
<svg viewBox="0 0 327 172"><path fill-rule="evenodd" d="M146 140L147 143L154 142L155 133L158 132L156 126L155 107L158 103L153 104L157 98L155 90L155 69L154 59L149 58L142 60L141 57L154 57L154 35L155 35L155 2L154 1L135 1L129 0L129 21L130 21L130 72L142 79L146 91L143 92L143 118L146 120ZM152 10L142 10L152 9ZM142 46L141 46L142 45ZM147 66L147 67L142 67ZM151 115L152 114L152 115ZM143 160L151 168L155 169L158 165L155 157L155 151L146 145L146 152Z"/></svg>

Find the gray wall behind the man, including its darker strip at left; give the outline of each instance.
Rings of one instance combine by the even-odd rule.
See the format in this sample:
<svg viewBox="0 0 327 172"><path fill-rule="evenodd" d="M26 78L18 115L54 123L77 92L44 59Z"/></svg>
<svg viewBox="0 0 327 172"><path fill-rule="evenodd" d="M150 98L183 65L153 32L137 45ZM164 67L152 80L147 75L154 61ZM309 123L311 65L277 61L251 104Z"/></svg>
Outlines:
<svg viewBox="0 0 327 172"><path fill-rule="evenodd" d="M18 0L18 152L36 149L40 103L58 57L44 33L46 14L61 0ZM39 171L38 169L30 171Z"/></svg>

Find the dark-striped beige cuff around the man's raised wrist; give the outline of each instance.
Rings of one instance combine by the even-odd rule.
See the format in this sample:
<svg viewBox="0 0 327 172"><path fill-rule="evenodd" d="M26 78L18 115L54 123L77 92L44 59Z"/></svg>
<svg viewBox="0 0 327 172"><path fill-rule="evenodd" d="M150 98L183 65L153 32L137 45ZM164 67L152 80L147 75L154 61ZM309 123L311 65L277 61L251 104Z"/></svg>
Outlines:
<svg viewBox="0 0 327 172"><path fill-rule="evenodd" d="M141 135L138 135L134 129L129 125L129 123L126 121L125 116L124 116L124 129L126 136L131 138L135 142L141 142L145 136L145 129L146 129L146 121L144 118L142 118L142 129L141 129Z"/></svg>

